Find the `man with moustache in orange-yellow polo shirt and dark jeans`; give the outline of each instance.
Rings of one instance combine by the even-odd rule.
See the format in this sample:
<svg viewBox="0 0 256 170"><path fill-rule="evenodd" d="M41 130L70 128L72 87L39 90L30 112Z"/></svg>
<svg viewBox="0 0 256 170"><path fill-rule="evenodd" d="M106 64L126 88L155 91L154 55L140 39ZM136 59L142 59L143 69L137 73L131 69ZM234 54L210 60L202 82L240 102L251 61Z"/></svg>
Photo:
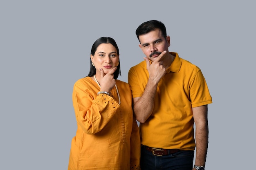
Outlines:
<svg viewBox="0 0 256 170"><path fill-rule="evenodd" d="M212 98L200 68L168 52L162 22L144 22L136 35L146 57L130 68L128 83L140 122L141 170L204 170Z"/></svg>

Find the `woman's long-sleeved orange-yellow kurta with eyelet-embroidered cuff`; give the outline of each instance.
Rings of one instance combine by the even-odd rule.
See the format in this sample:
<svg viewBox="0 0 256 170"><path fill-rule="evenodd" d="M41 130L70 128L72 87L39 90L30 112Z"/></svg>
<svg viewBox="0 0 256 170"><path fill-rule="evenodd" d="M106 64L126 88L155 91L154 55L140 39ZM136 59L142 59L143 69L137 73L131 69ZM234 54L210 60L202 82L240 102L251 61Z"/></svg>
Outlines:
<svg viewBox="0 0 256 170"><path fill-rule="evenodd" d="M77 121L68 170L140 169L139 130L132 112L132 94L126 82L116 80L113 97L99 94L91 77L74 84L73 106Z"/></svg>

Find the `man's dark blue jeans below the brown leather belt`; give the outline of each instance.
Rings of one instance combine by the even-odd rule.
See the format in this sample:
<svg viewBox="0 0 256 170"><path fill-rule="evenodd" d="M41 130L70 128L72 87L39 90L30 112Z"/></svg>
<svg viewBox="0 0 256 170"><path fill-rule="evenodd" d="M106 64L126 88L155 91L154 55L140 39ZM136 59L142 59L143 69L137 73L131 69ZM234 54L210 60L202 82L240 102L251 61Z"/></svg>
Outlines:
<svg viewBox="0 0 256 170"><path fill-rule="evenodd" d="M141 147L141 170L192 170L194 151L180 150L164 156L155 156Z"/></svg>

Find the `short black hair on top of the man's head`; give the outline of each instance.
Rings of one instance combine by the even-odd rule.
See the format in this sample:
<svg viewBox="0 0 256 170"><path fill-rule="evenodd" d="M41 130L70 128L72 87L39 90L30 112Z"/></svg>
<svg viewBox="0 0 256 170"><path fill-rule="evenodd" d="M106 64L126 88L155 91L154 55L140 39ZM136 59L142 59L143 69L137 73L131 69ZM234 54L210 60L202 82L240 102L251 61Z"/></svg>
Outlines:
<svg viewBox="0 0 256 170"><path fill-rule="evenodd" d="M136 29L136 35L138 40L139 40L139 35L144 35L156 29L159 29L162 32L162 36L166 38L167 34L166 34L166 28L164 24L161 21L149 20L147 22L140 24L140 26Z"/></svg>

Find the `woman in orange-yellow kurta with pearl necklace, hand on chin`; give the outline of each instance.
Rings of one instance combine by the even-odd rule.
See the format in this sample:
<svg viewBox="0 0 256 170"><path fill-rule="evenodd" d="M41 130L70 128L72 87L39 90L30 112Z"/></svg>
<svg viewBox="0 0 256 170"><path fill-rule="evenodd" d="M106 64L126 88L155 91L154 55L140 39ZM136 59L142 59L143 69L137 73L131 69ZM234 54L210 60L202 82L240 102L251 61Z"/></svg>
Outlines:
<svg viewBox="0 0 256 170"><path fill-rule="evenodd" d="M68 170L140 169L140 139L132 95L120 73L115 40L101 37L92 45L87 77L74 84L77 121Z"/></svg>

